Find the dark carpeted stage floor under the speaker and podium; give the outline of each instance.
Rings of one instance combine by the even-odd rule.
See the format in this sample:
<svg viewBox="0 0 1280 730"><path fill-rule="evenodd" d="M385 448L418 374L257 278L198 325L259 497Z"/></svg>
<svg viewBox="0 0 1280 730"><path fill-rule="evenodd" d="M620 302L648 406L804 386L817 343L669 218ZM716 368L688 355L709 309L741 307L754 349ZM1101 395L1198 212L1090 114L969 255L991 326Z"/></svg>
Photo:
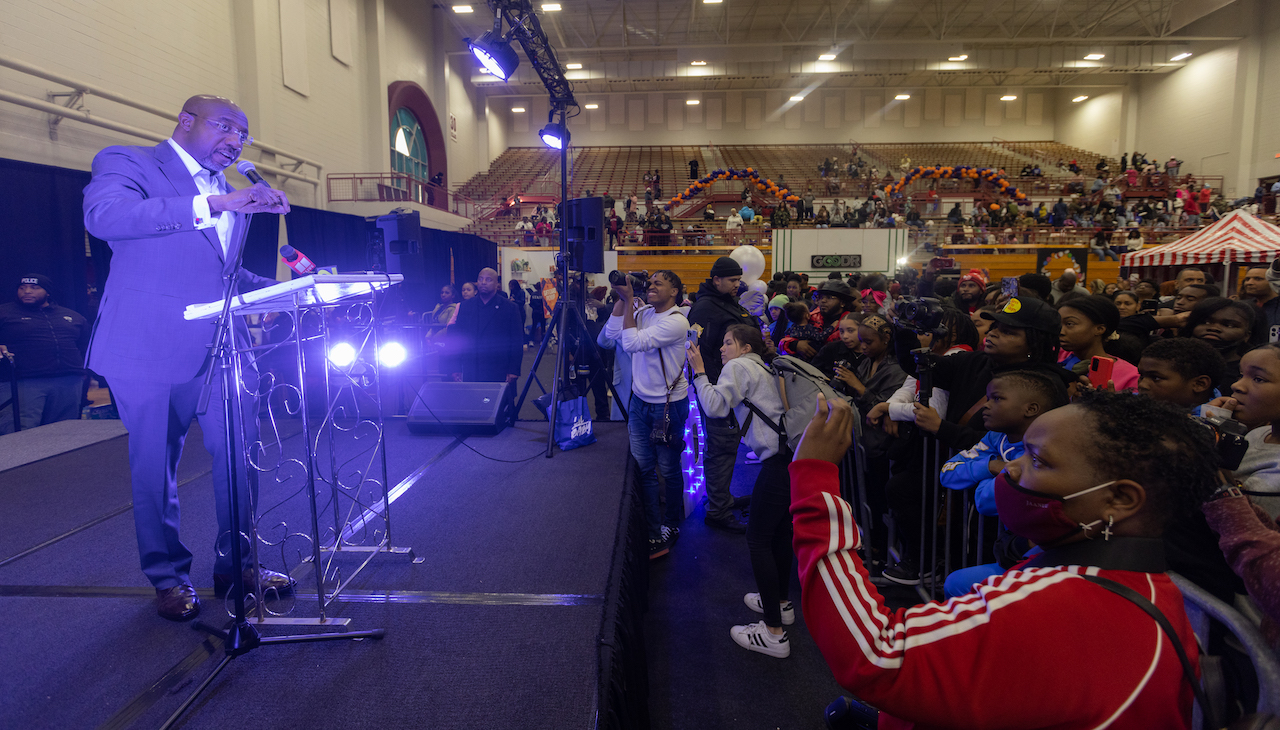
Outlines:
<svg viewBox="0 0 1280 730"><path fill-rule="evenodd" d="M96 421L55 425L50 438L67 447L0 470L0 727L159 727L218 663L220 642L155 613L138 570L128 435ZM86 433L68 433L77 428ZM18 446L6 438L42 442L42 430L0 437L0 451ZM300 441L297 430L284 421L282 441ZM259 648L234 660L178 726L611 726L598 720L626 712L602 697L611 684L602 672L611 662L617 672L618 658L602 662L600 645L637 610L620 604L618 583L639 512L626 426L595 432L596 444L548 460L545 421L465 441L389 423L393 544L422 560L375 557L330 611L352 630L387 637ZM201 619L220 622L198 426L178 480ZM316 615L314 578L300 583L294 613ZM261 628L316 630L333 629ZM643 683L643 648L623 663Z"/></svg>

